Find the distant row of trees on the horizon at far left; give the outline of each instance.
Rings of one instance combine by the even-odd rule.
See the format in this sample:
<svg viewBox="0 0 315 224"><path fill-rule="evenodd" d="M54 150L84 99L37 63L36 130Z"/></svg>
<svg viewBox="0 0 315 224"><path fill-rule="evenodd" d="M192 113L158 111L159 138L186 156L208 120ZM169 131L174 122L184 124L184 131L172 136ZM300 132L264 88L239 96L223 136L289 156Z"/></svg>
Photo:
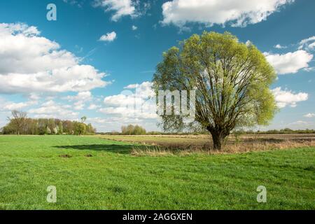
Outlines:
<svg viewBox="0 0 315 224"><path fill-rule="evenodd" d="M60 120L56 118L27 118L27 113L12 111L9 123L1 128L1 134L95 134L91 124L86 125L86 117L81 121Z"/></svg>

